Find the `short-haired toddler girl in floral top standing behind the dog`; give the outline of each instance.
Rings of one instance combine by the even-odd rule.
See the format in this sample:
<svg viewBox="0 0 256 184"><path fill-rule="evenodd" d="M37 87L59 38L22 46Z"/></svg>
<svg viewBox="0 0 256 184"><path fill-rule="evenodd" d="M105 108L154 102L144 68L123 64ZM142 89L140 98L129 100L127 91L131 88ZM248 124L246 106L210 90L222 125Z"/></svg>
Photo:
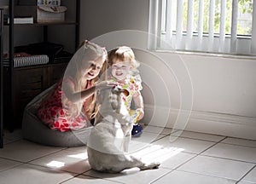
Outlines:
<svg viewBox="0 0 256 184"><path fill-rule="evenodd" d="M140 75L137 71L139 63L135 59L132 49L126 46L111 50L108 54L108 60L111 70L111 75L109 76L110 81L118 82L123 89L127 89L130 93L123 98L127 110L134 112L131 110L131 101L133 100L135 103L136 110L134 117L136 117L136 119L134 120L135 124L131 135L139 136L142 134L142 127L136 123L144 116L143 96L140 92L143 87Z"/></svg>

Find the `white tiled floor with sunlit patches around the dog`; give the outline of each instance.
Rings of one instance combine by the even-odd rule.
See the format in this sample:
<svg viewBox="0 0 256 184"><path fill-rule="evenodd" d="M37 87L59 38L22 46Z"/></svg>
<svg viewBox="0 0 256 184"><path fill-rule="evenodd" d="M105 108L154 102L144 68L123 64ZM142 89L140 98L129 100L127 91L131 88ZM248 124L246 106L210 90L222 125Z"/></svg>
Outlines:
<svg viewBox="0 0 256 184"><path fill-rule="evenodd" d="M3 142L0 184L256 183L256 141L220 135L147 127L132 138L131 150L160 168L120 174L91 170L86 147L45 147L22 140L19 129L5 131Z"/></svg>

